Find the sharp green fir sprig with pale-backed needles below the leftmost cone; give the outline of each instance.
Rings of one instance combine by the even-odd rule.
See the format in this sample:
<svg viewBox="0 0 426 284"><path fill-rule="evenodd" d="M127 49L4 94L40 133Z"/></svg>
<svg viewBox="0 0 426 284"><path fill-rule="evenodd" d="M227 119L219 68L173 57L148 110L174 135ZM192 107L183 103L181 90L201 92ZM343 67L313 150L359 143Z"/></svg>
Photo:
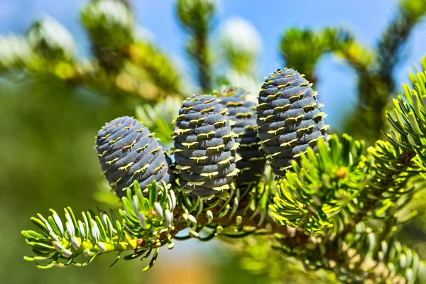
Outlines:
<svg viewBox="0 0 426 284"><path fill-rule="evenodd" d="M173 224L175 195L167 190L166 185L148 187L149 197L143 197L141 188L135 182L136 194L123 197L124 209L120 210L121 222L110 215L99 212L82 212L82 219L76 219L70 207L65 209L65 220L62 222L58 214L50 209L48 218L38 214L31 222L38 226L41 234L36 231L22 231L27 244L33 247L33 257L25 257L27 261L35 261L38 268L53 266L86 266L102 253L133 250L133 254L124 259L137 257L146 258L153 253L151 263L144 268L151 268L158 255L158 248L168 244L173 249L170 231ZM160 195L158 195L158 193ZM84 255L89 258L84 263L76 258ZM41 261L41 263L40 263ZM115 261L114 261L115 263ZM113 263L113 265L114 265Z"/></svg>

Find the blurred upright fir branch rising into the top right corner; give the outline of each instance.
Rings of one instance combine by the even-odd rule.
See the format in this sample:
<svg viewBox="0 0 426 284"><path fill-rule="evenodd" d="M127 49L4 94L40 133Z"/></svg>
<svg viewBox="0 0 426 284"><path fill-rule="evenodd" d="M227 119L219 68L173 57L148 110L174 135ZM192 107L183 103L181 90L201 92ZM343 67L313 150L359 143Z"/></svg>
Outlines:
<svg viewBox="0 0 426 284"><path fill-rule="evenodd" d="M373 144L386 131L385 111L395 92L395 67L403 59L403 45L426 13L425 0L403 0L395 20L383 33L376 50L347 45L341 55L358 74L358 106L345 131ZM361 121L361 123L360 123Z"/></svg>

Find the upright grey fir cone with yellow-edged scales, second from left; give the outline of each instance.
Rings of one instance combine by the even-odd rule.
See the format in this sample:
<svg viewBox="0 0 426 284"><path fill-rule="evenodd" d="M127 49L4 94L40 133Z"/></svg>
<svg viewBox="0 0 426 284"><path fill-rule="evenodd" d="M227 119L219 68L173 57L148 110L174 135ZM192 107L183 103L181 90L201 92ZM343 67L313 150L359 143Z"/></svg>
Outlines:
<svg viewBox="0 0 426 284"><path fill-rule="evenodd" d="M175 121L176 184L193 196L219 195L236 174L234 132L226 110L211 95L192 95Z"/></svg>

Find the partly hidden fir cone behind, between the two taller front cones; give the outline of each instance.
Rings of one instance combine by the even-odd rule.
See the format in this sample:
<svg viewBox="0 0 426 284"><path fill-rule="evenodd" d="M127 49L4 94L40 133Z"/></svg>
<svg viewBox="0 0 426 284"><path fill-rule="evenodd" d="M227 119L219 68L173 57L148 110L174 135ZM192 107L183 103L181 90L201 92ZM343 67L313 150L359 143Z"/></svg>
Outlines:
<svg viewBox="0 0 426 284"><path fill-rule="evenodd" d="M232 131L239 143L237 153L241 160L236 162L236 168L240 170L236 186L257 182L263 175L266 160L259 149L256 103L248 101L247 92L237 87L224 87L216 95L220 104L228 109L228 118L234 124Z"/></svg>

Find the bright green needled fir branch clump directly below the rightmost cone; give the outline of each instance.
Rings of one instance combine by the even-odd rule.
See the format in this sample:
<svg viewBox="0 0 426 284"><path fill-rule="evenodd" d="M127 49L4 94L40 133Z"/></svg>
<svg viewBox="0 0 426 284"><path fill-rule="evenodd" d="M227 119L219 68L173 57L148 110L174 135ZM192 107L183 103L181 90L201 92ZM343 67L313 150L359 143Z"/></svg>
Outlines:
<svg viewBox="0 0 426 284"><path fill-rule="evenodd" d="M404 256L383 254L381 246L383 241L393 244L393 231L398 226L395 212L410 200L414 189L410 180L421 169L411 160L413 156L391 143L378 141L364 156L361 148L350 150L354 149L354 142L347 137L345 140L346 146L339 146L337 137L332 137L328 151L320 141L316 155L308 150L300 165L294 163L294 173L287 173L285 180L278 182L271 205L274 219L295 226L297 231L304 229L306 236L297 249L288 236L275 234L277 248L302 259L305 268L334 271L345 282L366 280L373 275L408 280L420 277L422 263L419 266L418 262L401 260L401 266L396 268ZM342 158L345 156L351 158ZM345 160L349 165L344 164ZM342 180L343 187L339 185L341 178L347 178ZM327 193L330 189L334 194ZM355 194L339 203L337 190ZM384 260L386 257L390 259Z"/></svg>

